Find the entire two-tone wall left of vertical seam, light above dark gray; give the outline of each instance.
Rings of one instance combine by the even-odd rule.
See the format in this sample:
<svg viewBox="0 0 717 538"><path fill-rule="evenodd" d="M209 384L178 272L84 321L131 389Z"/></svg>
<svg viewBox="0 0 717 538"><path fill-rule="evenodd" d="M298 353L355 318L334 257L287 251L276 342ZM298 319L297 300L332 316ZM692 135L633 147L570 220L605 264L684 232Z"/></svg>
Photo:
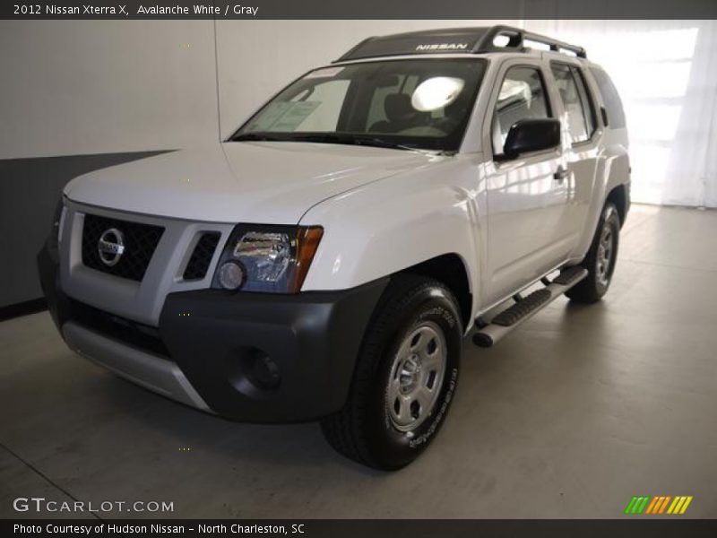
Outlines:
<svg viewBox="0 0 717 538"><path fill-rule="evenodd" d="M0 22L0 308L41 296L34 257L65 183L219 138L212 21Z"/></svg>

